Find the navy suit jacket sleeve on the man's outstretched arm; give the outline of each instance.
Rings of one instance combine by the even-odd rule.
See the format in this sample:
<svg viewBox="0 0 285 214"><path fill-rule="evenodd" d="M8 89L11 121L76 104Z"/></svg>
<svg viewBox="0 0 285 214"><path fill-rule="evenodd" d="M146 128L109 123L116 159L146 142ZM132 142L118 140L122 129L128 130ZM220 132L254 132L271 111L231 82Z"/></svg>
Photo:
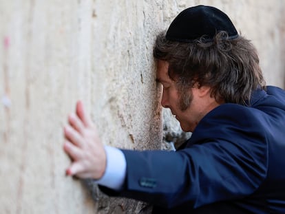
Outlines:
<svg viewBox="0 0 285 214"><path fill-rule="evenodd" d="M166 208L186 202L197 208L253 193L267 173L266 131L258 116L233 107L218 107L203 118L193 145L180 151L123 150L127 175L118 195Z"/></svg>

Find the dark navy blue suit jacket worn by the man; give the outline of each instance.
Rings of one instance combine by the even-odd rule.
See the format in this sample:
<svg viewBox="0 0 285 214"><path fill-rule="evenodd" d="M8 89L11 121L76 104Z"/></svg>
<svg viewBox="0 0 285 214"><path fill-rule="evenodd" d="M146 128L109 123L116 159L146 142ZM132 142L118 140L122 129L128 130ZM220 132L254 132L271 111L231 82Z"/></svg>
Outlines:
<svg viewBox="0 0 285 214"><path fill-rule="evenodd" d="M249 107L216 107L176 152L123 153L116 195L154 204L154 213L285 213L285 92L267 87Z"/></svg>

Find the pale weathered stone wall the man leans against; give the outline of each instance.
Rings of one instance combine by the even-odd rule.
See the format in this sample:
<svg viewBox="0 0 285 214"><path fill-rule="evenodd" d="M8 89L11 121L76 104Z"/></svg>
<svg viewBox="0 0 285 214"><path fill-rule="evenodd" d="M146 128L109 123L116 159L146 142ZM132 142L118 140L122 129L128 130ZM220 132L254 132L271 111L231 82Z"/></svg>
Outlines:
<svg viewBox="0 0 285 214"><path fill-rule="evenodd" d="M63 125L81 99L106 145L160 149L185 138L159 104L152 47L178 12L217 6L284 86L284 1L0 1L1 213L148 213L65 177ZM163 131L164 130L164 131ZM91 189L91 194L89 193Z"/></svg>

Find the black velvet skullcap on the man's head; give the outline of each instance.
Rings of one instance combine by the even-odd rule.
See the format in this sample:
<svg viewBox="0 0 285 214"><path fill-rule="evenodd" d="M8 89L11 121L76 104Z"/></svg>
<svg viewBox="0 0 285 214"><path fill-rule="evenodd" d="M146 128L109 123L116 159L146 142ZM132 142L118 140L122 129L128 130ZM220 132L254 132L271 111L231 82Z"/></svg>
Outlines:
<svg viewBox="0 0 285 214"><path fill-rule="evenodd" d="M220 31L228 33L228 39L237 38L237 30L231 19L217 8L196 6L180 12L170 24L166 39L184 43L193 43L203 36L204 41L213 41Z"/></svg>

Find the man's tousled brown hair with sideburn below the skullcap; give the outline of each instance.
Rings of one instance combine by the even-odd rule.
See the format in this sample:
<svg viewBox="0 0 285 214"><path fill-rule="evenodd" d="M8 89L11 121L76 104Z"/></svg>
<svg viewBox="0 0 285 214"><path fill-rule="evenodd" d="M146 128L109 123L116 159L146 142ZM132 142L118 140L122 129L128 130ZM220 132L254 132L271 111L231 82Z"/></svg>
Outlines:
<svg viewBox="0 0 285 214"><path fill-rule="evenodd" d="M154 58L169 63L169 77L182 94L198 83L198 87L211 87L211 96L217 101L246 105L255 89L265 89L259 58L251 41L227 36L219 32L211 42L201 37L194 43L180 43L165 39L161 32Z"/></svg>

